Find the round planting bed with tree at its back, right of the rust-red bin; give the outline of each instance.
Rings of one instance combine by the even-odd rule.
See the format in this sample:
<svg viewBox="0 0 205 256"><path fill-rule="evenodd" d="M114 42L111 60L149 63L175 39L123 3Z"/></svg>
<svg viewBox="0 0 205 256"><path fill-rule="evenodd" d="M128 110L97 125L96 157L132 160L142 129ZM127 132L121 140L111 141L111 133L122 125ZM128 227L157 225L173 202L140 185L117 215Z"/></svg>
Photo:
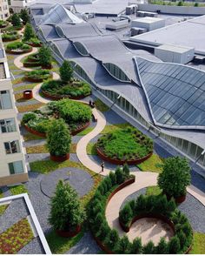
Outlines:
<svg viewBox="0 0 205 256"><path fill-rule="evenodd" d="M63 84L61 80L50 80L42 84L41 91L46 98L53 100L81 99L90 95L91 87L89 84L76 79L69 84Z"/></svg>

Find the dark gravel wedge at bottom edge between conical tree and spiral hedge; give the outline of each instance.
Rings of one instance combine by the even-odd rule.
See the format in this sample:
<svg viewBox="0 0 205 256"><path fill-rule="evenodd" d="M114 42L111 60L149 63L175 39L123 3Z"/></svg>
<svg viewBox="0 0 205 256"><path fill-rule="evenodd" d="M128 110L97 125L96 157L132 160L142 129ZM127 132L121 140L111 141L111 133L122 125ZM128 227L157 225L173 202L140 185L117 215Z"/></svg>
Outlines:
<svg viewBox="0 0 205 256"><path fill-rule="evenodd" d="M65 254L97 254L101 251L90 232L85 232L83 238Z"/></svg>

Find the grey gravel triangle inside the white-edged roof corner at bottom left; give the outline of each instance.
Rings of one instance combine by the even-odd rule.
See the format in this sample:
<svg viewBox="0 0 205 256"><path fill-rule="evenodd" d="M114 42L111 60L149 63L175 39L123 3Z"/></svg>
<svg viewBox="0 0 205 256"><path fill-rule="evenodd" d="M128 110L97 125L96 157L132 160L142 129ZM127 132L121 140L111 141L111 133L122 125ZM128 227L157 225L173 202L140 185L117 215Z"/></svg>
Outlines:
<svg viewBox="0 0 205 256"><path fill-rule="evenodd" d="M37 237L24 246L17 254L45 254L41 240Z"/></svg>

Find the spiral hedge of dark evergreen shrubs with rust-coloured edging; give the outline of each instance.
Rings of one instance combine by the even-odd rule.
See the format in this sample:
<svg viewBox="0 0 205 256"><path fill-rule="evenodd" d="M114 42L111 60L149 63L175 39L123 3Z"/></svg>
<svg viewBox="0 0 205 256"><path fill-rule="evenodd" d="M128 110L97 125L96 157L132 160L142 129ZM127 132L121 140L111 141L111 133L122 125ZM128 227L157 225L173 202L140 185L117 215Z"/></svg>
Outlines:
<svg viewBox="0 0 205 256"><path fill-rule="evenodd" d="M187 253L192 244L191 226L188 219L175 209L175 201L168 201L165 196L140 196L126 204L120 216L123 226L130 226L132 220L136 220L136 215L138 215L138 218L142 217L142 214L149 217L150 213L153 213L152 216L154 216L154 214L161 212L159 218L168 222L175 231L175 236L170 239L169 243L161 239L157 246L154 246L150 241L147 245L142 246L141 239L134 239L131 243L126 235L120 238L118 232L109 227L105 217L106 206L113 195L126 185L126 180L129 180L129 173L126 173L127 175L119 168L116 169L115 173L110 172L109 176L102 180L89 203L89 227L97 244L105 253ZM128 207L129 211L126 210ZM155 217L158 217L158 215L155 215Z"/></svg>

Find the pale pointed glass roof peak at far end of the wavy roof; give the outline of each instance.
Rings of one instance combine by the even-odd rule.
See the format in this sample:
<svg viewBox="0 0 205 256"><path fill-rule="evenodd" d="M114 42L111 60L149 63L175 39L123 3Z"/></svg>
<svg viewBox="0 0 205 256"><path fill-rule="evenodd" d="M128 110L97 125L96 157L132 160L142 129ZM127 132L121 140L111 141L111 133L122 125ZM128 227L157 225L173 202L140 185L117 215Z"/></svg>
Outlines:
<svg viewBox="0 0 205 256"><path fill-rule="evenodd" d="M46 13L40 24L80 24L84 23L83 19L76 17L70 10L63 7L61 4L55 4L48 13Z"/></svg>

